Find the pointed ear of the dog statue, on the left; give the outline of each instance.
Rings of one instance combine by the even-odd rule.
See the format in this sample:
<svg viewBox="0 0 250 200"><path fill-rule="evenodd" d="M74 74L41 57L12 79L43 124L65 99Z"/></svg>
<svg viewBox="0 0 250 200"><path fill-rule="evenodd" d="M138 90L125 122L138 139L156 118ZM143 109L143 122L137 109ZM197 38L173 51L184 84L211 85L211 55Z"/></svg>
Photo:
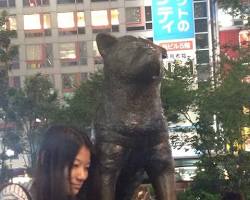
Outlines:
<svg viewBox="0 0 250 200"><path fill-rule="evenodd" d="M116 42L117 38L108 33L99 33L96 36L97 47L102 57L105 57L108 53L107 49L113 46Z"/></svg>

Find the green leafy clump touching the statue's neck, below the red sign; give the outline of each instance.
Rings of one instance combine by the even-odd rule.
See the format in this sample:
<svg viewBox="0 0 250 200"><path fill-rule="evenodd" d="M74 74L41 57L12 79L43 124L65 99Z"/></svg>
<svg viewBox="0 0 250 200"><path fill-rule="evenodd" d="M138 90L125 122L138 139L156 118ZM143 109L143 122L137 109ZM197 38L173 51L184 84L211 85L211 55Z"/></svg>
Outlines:
<svg viewBox="0 0 250 200"><path fill-rule="evenodd" d="M188 63L186 63L188 64ZM193 108L195 76L192 66L175 61L164 69L161 85L161 99L168 121L180 121L180 115L191 120L188 112Z"/></svg>

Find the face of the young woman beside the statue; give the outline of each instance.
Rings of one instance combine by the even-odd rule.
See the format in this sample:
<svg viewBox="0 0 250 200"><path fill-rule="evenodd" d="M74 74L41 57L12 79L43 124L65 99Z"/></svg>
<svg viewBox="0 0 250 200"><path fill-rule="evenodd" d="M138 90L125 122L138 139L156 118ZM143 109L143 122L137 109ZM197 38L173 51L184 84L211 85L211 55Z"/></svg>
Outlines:
<svg viewBox="0 0 250 200"><path fill-rule="evenodd" d="M88 178L88 169L90 165L90 151L82 146L75 157L72 169L70 171L70 193L77 195L84 181Z"/></svg>

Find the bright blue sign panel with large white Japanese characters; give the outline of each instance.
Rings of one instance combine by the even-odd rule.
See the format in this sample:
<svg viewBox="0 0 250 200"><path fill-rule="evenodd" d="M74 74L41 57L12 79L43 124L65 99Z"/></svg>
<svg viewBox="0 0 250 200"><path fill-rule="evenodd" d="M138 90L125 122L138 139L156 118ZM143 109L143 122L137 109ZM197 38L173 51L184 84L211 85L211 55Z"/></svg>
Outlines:
<svg viewBox="0 0 250 200"><path fill-rule="evenodd" d="M154 41L194 37L193 0L153 0Z"/></svg>

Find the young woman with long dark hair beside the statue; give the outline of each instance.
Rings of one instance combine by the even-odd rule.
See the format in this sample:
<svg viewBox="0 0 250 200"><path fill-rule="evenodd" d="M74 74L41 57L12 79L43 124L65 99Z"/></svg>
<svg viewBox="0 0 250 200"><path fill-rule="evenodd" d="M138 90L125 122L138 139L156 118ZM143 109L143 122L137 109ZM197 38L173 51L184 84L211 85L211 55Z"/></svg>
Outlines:
<svg viewBox="0 0 250 200"><path fill-rule="evenodd" d="M40 147L32 199L83 200L91 149L87 135L79 130L50 127Z"/></svg>

